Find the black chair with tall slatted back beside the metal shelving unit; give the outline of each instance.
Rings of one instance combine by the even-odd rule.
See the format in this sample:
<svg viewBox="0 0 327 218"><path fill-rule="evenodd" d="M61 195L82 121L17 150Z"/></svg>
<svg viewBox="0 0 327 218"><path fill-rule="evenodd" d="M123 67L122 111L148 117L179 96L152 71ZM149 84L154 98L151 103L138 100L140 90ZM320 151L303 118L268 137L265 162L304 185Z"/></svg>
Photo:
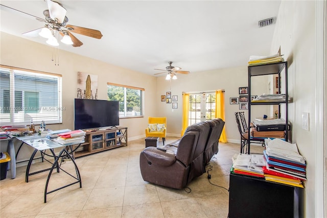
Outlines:
<svg viewBox="0 0 327 218"><path fill-rule="evenodd" d="M236 123L239 128L239 132L240 132L240 136L241 136L241 151L240 152L242 154L244 154L244 148L245 148L245 151L247 151L248 137L249 137L249 134L248 134L249 128L246 123L244 112L236 112L235 119L236 119ZM261 139L261 138L251 138L250 143L258 143L258 144L261 144L262 146L264 146L265 140Z"/></svg>

